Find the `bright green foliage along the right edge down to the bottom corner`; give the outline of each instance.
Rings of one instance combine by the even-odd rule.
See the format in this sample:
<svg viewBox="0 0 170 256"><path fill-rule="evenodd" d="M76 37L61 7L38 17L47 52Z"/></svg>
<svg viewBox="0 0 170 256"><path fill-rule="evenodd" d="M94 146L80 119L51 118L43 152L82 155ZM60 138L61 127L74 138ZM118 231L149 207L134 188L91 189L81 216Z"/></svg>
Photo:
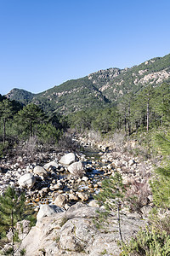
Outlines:
<svg viewBox="0 0 170 256"><path fill-rule="evenodd" d="M167 128L167 102L164 102L162 115L165 118L161 131L154 133L153 141L159 154L163 156L161 166L156 167L155 176L150 181L154 207L150 213L150 225L140 230L138 235L122 246L122 255L169 255L170 253L170 137Z"/></svg>

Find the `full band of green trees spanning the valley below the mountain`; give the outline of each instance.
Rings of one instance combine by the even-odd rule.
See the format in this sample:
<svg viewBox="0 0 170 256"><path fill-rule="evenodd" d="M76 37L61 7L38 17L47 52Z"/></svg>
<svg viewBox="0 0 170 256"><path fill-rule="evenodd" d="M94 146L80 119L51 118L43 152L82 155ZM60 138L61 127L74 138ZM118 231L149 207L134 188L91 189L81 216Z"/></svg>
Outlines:
<svg viewBox="0 0 170 256"><path fill-rule="evenodd" d="M29 137L37 137L40 143L57 143L67 128L101 133L123 130L128 136L136 131L150 131L169 125L169 101L169 84L149 84L136 93L129 91L114 106L86 108L61 116L52 110L44 112L33 103L24 106L0 96L0 146L7 148L8 144Z"/></svg>

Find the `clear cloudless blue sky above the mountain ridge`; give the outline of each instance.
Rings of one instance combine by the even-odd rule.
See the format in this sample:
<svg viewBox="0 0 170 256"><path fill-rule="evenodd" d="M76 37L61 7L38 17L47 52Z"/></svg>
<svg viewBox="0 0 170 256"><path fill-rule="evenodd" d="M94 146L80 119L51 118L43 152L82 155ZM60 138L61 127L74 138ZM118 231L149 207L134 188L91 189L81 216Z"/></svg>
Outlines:
<svg viewBox="0 0 170 256"><path fill-rule="evenodd" d="M0 94L170 53L169 0L0 0Z"/></svg>

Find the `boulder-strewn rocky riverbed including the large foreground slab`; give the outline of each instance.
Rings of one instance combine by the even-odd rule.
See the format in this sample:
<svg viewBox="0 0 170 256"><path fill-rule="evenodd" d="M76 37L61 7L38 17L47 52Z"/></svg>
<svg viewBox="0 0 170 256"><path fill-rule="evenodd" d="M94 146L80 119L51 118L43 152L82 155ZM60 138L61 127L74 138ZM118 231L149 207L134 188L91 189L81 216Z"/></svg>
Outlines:
<svg viewBox="0 0 170 256"><path fill-rule="evenodd" d="M93 146L92 141L82 138L79 141L85 148ZM93 222L99 207L93 196L99 193L101 181L116 171L122 173L127 195L135 194L139 200L139 208L133 208L129 201L122 208L124 239L129 239L147 222L145 217L152 207L148 184L151 162L122 154L111 143L97 146L93 154L53 152L44 160L37 157L34 163L22 157L2 160L0 193L8 184L24 190L26 202L38 212L36 226L22 242L27 256L119 255L116 213L110 217L107 231L97 230Z"/></svg>

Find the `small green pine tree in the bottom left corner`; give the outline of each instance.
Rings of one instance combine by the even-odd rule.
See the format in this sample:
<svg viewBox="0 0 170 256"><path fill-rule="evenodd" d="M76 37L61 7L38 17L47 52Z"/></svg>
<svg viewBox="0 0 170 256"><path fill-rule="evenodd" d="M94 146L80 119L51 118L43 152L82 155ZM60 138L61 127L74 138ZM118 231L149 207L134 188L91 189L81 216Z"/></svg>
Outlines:
<svg viewBox="0 0 170 256"><path fill-rule="evenodd" d="M14 255L14 238L17 235L14 226L23 218L25 201L25 194L19 195L11 187L0 196L0 238L6 236L8 230L12 231L12 255Z"/></svg>

